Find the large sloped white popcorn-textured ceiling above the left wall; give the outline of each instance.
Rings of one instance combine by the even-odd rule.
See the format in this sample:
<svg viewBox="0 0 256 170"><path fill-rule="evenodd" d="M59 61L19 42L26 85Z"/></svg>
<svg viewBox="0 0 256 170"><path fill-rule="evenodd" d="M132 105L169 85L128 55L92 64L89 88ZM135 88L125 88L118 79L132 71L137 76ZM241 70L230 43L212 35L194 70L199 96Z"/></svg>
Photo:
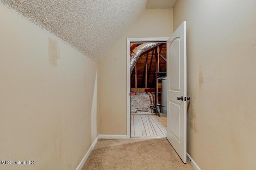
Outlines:
<svg viewBox="0 0 256 170"><path fill-rule="evenodd" d="M166 0L150 0L148 8ZM174 1L177 0L168 0ZM100 62L145 10L147 0L0 0L56 35L89 58ZM173 5L174 5L173 4ZM172 3L168 4L173 8ZM151 6L151 7L150 7ZM166 8L166 5L164 6Z"/></svg>

